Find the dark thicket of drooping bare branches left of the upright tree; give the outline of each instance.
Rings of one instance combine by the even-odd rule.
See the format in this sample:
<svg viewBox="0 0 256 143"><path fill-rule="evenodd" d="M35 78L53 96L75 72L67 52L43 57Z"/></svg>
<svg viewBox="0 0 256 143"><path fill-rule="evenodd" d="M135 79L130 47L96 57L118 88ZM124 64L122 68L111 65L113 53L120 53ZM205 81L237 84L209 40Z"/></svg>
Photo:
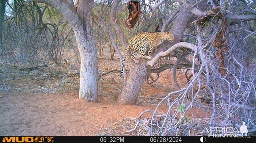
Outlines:
<svg viewBox="0 0 256 143"><path fill-rule="evenodd" d="M1 60L13 65L59 65L64 49L72 47L72 34L68 22L46 4L8 3Z"/></svg>

